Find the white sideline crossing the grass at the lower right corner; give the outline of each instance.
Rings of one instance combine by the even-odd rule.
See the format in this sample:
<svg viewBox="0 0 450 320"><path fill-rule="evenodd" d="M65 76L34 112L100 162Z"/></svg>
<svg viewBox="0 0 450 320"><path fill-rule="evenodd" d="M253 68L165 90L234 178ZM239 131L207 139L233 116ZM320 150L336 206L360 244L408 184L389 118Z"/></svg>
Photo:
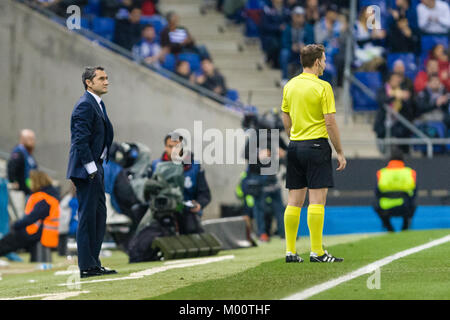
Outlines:
<svg viewBox="0 0 450 320"><path fill-rule="evenodd" d="M360 268L358 270L355 270L355 271L353 271L351 273L343 275L343 276L341 276L339 278L336 278L336 279L324 282L322 284L316 285L316 286L311 287L309 289L306 289L306 290L300 291L298 293L295 293L293 295L290 295L290 296L284 298L283 300L305 300L305 299L308 299L308 298L310 298L312 296L315 296L316 294L319 294L319 293L321 293L323 291L326 291L328 289L336 287L337 285L340 285L341 283L344 283L346 281L355 279L355 278L360 277L360 276L362 276L364 274L367 274L367 273L372 273L376 269L381 268L382 266L385 266L385 265L391 263L394 260L397 260L397 259L409 256L410 254L414 254L414 253L417 253L417 252L422 251L422 250L429 249L429 248L434 247L434 246L438 246L440 244L443 244L443 243L446 243L446 242L449 242L449 241L450 241L450 235L447 235L447 236L445 236L443 238L440 238L440 239L437 239L437 240L425 243L423 245L420 245L420 246L417 246L417 247L414 247L414 248L410 248L410 249L407 249L407 250L404 250L404 251L397 252L396 254L393 254L393 255L391 255L389 257L386 257L386 258L383 258L381 260L375 261L375 262L373 262L371 264L368 264L365 267L362 267L362 268Z"/></svg>

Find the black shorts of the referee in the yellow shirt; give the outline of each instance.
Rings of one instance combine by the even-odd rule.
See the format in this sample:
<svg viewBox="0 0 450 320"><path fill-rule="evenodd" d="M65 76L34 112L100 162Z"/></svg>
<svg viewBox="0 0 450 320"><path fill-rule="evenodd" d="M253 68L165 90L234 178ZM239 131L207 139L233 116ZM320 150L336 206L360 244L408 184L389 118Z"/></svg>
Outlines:
<svg viewBox="0 0 450 320"><path fill-rule="evenodd" d="M290 141L287 149L286 188L332 188L333 168L328 139Z"/></svg>

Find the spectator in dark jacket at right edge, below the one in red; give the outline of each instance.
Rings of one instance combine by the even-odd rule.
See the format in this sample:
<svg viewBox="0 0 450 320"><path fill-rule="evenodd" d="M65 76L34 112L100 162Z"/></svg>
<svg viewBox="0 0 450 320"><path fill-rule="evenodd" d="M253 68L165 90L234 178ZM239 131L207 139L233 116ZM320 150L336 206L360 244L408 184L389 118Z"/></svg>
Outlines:
<svg viewBox="0 0 450 320"><path fill-rule="evenodd" d="M431 75L427 87L416 99L417 121L444 121L449 110L449 97L437 74Z"/></svg>

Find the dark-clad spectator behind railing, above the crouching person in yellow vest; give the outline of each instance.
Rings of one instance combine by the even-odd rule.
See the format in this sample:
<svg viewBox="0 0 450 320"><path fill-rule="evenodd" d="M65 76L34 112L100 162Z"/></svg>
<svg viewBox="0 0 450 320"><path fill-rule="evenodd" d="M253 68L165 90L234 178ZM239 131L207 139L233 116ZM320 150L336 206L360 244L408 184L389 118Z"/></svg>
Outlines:
<svg viewBox="0 0 450 320"><path fill-rule="evenodd" d="M399 74L392 73L384 87L377 93L378 103L380 105L375 117L374 131L377 138L386 136L386 129L390 130L390 136L395 138L407 138L410 131L397 119L386 116L384 105L398 112L407 120L414 118L415 110L411 93L402 87L403 77ZM408 152L408 146L401 147L404 152Z"/></svg>

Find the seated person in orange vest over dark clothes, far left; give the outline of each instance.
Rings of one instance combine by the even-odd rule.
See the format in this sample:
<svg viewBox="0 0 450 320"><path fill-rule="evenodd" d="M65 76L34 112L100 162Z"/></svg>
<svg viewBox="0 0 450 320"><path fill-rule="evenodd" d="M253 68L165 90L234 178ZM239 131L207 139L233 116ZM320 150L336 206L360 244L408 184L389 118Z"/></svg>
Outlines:
<svg viewBox="0 0 450 320"><path fill-rule="evenodd" d="M30 180L32 194L27 201L25 215L0 240L0 256L22 248L31 249L39 241L45 247L58 246L58 191L44 172L31 171Z"/></svg>

